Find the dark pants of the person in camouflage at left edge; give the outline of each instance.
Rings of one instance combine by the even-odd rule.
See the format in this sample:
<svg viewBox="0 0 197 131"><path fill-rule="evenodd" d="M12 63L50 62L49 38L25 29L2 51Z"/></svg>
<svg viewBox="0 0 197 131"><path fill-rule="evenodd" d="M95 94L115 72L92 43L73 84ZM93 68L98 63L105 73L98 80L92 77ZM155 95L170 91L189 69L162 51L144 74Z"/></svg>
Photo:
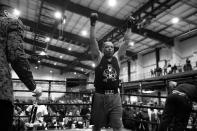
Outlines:
<svg viewBox="0 0 197 131"><path fill-rule="evenodd" d="M13 105L10 101L0 100L0 131L12 131Z"/></svg>

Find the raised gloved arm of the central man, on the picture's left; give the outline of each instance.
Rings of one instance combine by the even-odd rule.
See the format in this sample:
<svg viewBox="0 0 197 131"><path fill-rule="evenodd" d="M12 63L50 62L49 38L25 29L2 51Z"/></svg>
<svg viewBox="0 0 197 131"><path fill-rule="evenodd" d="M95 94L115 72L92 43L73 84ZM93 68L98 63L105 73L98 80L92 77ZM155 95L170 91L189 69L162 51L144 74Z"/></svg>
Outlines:
<svg viewBox="0 0 197 131"><path fill-rule="evenodd" d="M91 50L91 55L92 58L95 61L98 61L100 58L100 50L99 50L99 46L98 46L98 42L96 41L96 37L95 37L95 25L96 25L96 21L98 19L98 15L97 13L92 13L90 16L90 50Z"/></svg>

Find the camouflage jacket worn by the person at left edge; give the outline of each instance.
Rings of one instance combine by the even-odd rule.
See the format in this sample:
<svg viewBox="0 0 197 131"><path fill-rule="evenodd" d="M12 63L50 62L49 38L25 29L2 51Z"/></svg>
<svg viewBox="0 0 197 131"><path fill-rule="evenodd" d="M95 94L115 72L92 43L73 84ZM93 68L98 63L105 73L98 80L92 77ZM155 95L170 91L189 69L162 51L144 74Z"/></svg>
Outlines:
<svg viewBox="0 0 197 131"><path fill-rule="evenodd" d="M9 64L31 91L36 87L23 49L23 32L20 20L0 17L0 100L13 101Z"/></svg>

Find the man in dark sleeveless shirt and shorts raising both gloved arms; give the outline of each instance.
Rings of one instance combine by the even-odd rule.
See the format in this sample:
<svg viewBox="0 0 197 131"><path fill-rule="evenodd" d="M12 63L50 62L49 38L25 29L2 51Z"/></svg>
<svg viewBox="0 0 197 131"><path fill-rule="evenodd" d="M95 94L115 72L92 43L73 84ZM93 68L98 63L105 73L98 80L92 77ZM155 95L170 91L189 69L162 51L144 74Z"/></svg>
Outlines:
<svg viewBox="0 0 197 131"><path fill-rule="evenodd" d="M113 43L107 41L103 43L101 52L95 36L97 19L98 14L92 13L90 16L90 49L96 68L91 123L94 125L93 131L100 131L102 127L106 126L112 127L113 131L121 131L122 103L118 89L120 57L126 53L132 21L128 22L124 43L119 50L114 52Z"/></svg>

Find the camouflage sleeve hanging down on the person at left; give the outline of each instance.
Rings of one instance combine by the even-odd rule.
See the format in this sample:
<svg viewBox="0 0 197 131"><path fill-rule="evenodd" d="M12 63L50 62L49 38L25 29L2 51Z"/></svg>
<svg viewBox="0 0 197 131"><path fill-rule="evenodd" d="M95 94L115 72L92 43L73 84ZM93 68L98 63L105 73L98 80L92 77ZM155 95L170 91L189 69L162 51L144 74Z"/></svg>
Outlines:
<svg viewBox="0 0 197 131"><path fill-rule="evenodd" d="M30 65L23 49L23 24L11 20L7 25L7 59L20 80L33 91L36 88Z"/></svg>

